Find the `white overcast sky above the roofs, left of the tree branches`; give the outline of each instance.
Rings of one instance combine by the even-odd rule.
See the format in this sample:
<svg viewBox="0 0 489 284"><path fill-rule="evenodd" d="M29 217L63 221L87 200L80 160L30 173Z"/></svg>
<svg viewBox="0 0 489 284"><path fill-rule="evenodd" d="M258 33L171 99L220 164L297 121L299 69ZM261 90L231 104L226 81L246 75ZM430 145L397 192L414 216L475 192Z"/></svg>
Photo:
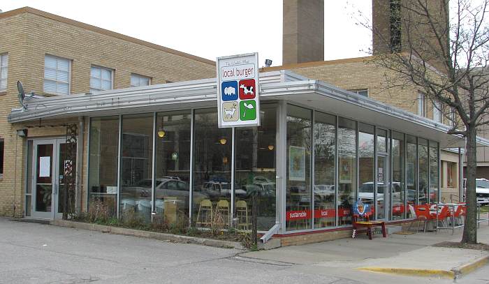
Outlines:
<svg viewBox="0 0 489 284"><path fill-rule="evenodd" d="M370 0L325 1L325 60L367 56ZM1 0L3 12L29 6L206 59L258 52L282 64L282 0Z"/></svg>

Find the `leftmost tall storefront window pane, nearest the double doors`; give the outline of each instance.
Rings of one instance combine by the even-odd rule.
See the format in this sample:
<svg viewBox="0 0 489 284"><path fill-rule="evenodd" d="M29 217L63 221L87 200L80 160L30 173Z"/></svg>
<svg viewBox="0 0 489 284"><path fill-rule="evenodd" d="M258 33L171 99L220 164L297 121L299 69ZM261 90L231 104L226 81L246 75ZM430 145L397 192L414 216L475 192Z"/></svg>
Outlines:
<svg viewBox="0 0 489 284"><path fill-rule="evenodd" d="M89 210L115 216L119 117L94 117L90 120L89 131Z"/></svg>

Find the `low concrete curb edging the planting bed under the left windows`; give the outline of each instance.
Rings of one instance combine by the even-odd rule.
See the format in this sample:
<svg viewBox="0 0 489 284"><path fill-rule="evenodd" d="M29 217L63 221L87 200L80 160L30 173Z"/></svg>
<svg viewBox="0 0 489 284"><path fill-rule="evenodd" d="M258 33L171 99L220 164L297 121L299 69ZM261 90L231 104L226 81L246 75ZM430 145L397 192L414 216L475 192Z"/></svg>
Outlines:
<svg viewBox="0 0 489 284"><path fill-rule="evenodd" d="M245 251L246 248L237 241L222 241L219 239L204 239L198 237L180 236L177 234L165 234L160 232L151 232L143 230L134 230L126 227L112 227L108 225L98 225L92 223L82 223L66 220L52 220L50 225L59 227L71 227L74 229L90 230L110 234L122 234L125 236L143 237L147 239L158 239L160 241L171 241L180 244L200 244L203 246L213 246L215 248L235 248Z"/></svg>

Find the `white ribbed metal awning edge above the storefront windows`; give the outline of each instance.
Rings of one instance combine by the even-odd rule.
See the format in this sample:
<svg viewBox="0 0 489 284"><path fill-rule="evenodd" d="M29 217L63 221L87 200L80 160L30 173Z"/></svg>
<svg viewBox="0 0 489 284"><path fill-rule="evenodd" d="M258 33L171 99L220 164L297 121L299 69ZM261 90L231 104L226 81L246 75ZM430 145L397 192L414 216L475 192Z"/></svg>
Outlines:
<svg viewBox="0 0 489 284"><path fill-rule="evenodd" d="M17 123L36 119L215 107L216 96L216 80L205 79L115 89L95 94L35 98L27 100L27 110L12 110L8 121ZM321 81L307 80L288 70L261 73L260 96L262 101L287 100L289 103L355 119L365 124L424 137L439 142L441 148L465 146L462 137L446 134L448 126L444 124ZM478 143L489 146L489 140L480 137Z"/></svg>

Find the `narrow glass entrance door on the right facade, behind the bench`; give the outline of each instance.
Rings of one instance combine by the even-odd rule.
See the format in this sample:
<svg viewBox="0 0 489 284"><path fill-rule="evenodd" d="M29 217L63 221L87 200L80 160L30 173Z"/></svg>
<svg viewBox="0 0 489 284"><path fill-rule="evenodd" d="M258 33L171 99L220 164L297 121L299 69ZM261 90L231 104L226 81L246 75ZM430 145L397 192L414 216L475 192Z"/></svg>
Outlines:
<svg viewBox="0 0 489 284"><path fill-rule="evenodd" d="M389 200L388 155L377 154L377 192L375 194L375 214L377 219L385 219Z"/></svg>

